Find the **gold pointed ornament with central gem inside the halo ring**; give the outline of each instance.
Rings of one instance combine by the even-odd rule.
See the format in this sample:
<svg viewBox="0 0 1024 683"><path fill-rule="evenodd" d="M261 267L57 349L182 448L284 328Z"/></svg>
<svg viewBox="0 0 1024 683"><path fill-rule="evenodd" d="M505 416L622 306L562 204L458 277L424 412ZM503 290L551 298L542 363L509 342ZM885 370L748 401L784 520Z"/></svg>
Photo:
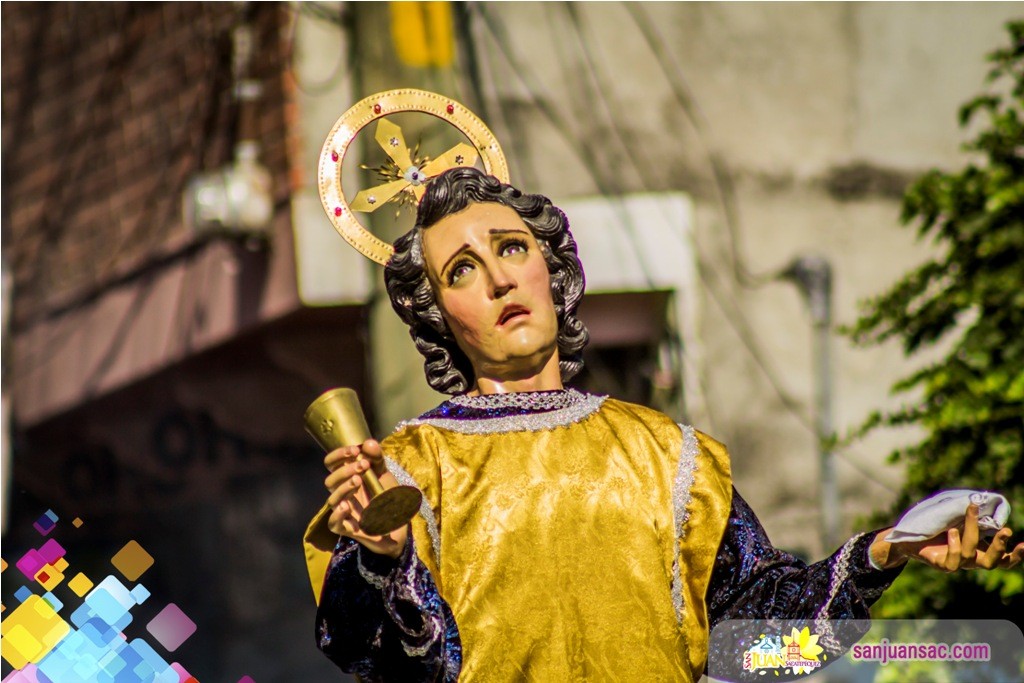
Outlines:
<svg viewBox="0 0 1024 683"><path fill-rule="evenodd" d="M362 168L376 171L385 182L356 194L350 205L352 211L370 213L388 202L395 202L399 206L412 205L423 197L426 189L424 183L430 178L450 168L476 163L476 150L465 142L460 142L436 159L421 158L417 154L419 145L410 152L401 128L387 119L377 122L374 139L387 154L388 161L377 168Z"/></svg>

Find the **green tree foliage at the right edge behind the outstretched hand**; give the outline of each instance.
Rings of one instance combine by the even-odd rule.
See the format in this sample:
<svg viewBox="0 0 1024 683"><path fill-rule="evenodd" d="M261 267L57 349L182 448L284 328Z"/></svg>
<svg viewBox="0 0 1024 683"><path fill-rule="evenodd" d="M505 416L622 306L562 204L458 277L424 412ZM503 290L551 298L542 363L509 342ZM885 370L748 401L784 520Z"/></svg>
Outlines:
<svg viewBox="0 0 1024 683"><path fill-rule="evenodd" d="M924 436L892 454L906 467L894 513L941 488L1002 492L1016 504L1013 543L1024 539L1024 22L989 55L988 92L966 103L972 160L932 170L903 198L901 220L937 247L936 258L868 301L847 332L860 344L902 342L942 357L901 380L907 404L877 413L859 434L914 425ZM943 574L911 565L877 615L1024 621L1024 571Z"/></svg>

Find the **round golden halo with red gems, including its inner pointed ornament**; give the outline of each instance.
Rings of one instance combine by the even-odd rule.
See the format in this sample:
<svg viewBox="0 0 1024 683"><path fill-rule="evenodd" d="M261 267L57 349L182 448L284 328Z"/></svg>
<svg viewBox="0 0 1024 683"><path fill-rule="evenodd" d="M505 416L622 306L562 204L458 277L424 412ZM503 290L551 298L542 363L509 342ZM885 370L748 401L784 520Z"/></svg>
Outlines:
<svg viewBox="0 0 1024 683"><path fill-rule="evenodd" d="M378 125L377 141L392 158L399 171L403 172L403 177L358 193L352 201L357 210L373 211L378 204L385 204L401 191L412 191L419 199L423 194L422 182L425 177L437 175L456 166L472 166L475 163L476 154L479 154L483 161L484 171L502 182L509 181L508 163L505 161L505 155L502 153L494 133L475 114L451 97L426 90L403 88L379 92L359 100L341 115L327 136L324 147L321 150L316 178L321 202L331 224L359 253L381 265L387 263L391 254L394 253L394 249L365 228L352 215L352 207L342 190L341 167L345 161L348 145L352 143L360 130L378 119L399 112L421 112L437 117L458 128L463 135L469 138L475 150L461 143L433 161L424 164L421 169L415 166L410 159L409 151L398 127L390 122L382 121ZM383 128L385 124L390 125L391 128ZM392 147L392 150L388 147ZM378 199L376 195L371 193L379 194L380 198ZM365 208L360 209L360 206Z"/></svg>

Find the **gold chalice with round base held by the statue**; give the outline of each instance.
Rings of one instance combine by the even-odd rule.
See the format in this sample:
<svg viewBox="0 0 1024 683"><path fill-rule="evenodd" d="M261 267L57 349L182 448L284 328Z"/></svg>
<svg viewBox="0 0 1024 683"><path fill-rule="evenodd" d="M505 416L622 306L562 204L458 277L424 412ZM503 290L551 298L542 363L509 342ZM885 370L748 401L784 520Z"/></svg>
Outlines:
<svg viewBox="0 0 1024 683"><path fill-rule="evenodd" d="M302 420L309 435L328 453L345 445L358 445L370 438L359 397L351 389L325 391L309 404ZM367 533L390 533L408 524L420 509L423 495L415 486L384 488L373 468L360 476L370 494L370 504L364 508L359 522Z"/></svg>

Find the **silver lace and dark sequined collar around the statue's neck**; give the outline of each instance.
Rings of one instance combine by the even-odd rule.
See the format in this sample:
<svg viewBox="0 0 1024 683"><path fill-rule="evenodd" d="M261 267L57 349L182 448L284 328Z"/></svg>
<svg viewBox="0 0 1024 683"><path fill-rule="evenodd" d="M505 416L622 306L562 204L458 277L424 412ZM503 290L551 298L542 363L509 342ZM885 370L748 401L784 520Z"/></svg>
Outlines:
<svg viewBox="0 0 1024 683"><path fill-rule="evenodd" d="M400 423L397 429L432 425L464 434L541 431L580 422L601 408L604 399L575 389L462 395Z"/></svg>

